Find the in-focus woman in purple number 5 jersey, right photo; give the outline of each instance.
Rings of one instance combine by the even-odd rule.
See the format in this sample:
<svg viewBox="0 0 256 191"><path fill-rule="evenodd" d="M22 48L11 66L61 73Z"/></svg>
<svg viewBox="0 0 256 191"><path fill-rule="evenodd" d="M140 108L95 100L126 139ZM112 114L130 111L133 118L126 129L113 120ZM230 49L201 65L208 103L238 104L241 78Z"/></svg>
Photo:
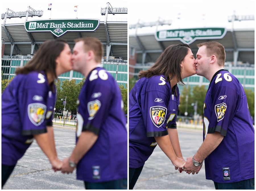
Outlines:
<svg viewBox="0 0 256 191"><path fill-rule="evenodd" d="M168 46L150 69L139 72L139 81L129 94L129 189L133 189L144 162L157 144L176 170L185 165L176 127L177 83L183 85L182 79L195 74L195 58L187 44ZM173 100L176 100L176 105ZM162 112L166 108L169 112L167 117ZM154 116L153 113L161 113L162 116ZM161 117L162 121L159 120ZM165 120L165 117L169 119ZM141 135L145 129L146 135Z"/></svg>

